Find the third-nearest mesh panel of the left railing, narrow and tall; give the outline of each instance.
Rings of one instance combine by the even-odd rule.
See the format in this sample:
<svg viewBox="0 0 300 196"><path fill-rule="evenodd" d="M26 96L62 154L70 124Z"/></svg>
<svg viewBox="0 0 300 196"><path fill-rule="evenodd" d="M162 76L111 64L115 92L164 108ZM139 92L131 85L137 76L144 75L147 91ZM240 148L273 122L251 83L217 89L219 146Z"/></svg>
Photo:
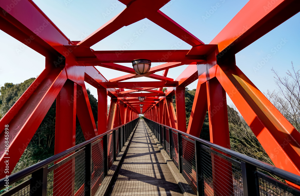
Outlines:
<svg viewBox="0 0 300 196"><path fill-rule="evenodd" d="M92 144L92 176L91 188L92 195L96 194L100 183L104 179L104 153L103 153L103 138L95 141Z"/></svg>

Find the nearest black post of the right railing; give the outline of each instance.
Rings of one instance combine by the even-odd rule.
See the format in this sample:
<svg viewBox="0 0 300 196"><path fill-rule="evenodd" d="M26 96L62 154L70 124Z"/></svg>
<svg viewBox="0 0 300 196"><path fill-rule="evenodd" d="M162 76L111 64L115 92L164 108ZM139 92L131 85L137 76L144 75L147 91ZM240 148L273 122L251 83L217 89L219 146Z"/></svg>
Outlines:
<svg viewBox="0 0 300 196"><path fill-rule="evenodd" d="M256 167L241 161L242 179L243 179L243 194L244 196L259 195L256 187L256 179L254 172Z"/></svg>

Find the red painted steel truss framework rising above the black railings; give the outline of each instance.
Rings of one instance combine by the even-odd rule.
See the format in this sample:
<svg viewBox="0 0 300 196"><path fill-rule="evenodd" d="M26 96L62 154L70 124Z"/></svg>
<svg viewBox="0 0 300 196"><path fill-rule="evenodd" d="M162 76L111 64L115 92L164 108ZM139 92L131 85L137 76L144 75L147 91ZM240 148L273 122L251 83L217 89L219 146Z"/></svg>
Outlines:
<svg viewBox="0 0 300 196"><path fill-rule="evenodd" d="M127 8L80 42L71 42L31 0L18 1L13 10L7 8L11 4L10 0L0 1L0 29L21 42L30 39L28 46L46 56L45 70L0 121L0 177L4 176L5 168L4 125L9 125L9 152L14 155L10 158L10 174L55 98L55 153L74 145L76 114L85 139L90 139L138 117L139 104L144 104L142 113L147 118L196 136L200 134L208 110L211 142L229 148L225 91L275 166L300 174L300 134L234 63L235 53L298 13L300 2L278 0L271 7L264 8L269 0L250 0L211 43L205 45L159 10L169 1L120 0ZM143 14L137 15L135 11L140 9ZM192 48L172 52L135 50L123 53L91 50L92 45L123 26L145 18L190 44ZM41 28L43 31L40 32ZM144 75L137 75L133 68L116 64L140 58L166 63L152 67ZM218 63L217 59L227 64ZM167 77L170 68L186 64L189 66L176 80ZM95 66L128 74L108 81ZM156 75L158 71L164 71L164 74ZM159 81L120 82L136 77ZM192 113L186 129L184 91L187 85L197 79ZM98 89L98 129L84 81ZM169 88L163 93L163 87ZM158 88L158 91L154 88ZM107 95L111 97L108 115ZM137 99L145 95L144 102ZM176 97L176 112L173 95ZM72 175L73 171L69 172ZM222 175L230 181L230 172L225 175L214 170L214 178ZM66 185L71 186L72 183ZM232 190L232 187L216 182L213 188L215 192L219 192L220 188Z"/></svg>

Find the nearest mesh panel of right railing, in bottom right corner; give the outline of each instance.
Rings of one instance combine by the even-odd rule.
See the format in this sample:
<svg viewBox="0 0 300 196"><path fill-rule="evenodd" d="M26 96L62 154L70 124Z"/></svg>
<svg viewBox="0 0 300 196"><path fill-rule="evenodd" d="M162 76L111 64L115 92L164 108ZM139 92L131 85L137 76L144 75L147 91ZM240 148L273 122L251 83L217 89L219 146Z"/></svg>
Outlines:
<svg viewBox="0 0 300 196"><path fill-rule="evenodd" d="M300 195L300 191L273 179L263 173L256 172L259 195L261 196L294 196Z"/></svg>

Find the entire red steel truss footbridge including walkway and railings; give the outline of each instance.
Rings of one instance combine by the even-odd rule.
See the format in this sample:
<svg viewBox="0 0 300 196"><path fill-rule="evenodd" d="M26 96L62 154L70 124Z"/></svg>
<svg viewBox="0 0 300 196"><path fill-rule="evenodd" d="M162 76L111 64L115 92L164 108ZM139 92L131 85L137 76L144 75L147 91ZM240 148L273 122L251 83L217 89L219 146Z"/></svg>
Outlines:
<svg viewBox="0 0 300 196"><path fill-rule="evenodd" d="M44 71L0 121L0 187L10 187L1 194L300 195L300 134L235 64L236 53L297 14L300 1L250 0L209 44L159 10L170 0L119 1L127 7L82 41L68 39L31 0L17 0L10 10L13 1L0 1L0 29L30 39L28 46L46 57ZM190 50L91 49L145 18ZM118 64L135 59L164 64L145 74ZM181 65L188 66L177 78L167 77ZM96 66L125 75L107 80ZM137 77L145 81L126 81ZM184 91L195 80L186 127ZM84 82L98 90L98 127ZM230 150L226 92L275 167ZM55 155L11 174L55 99ZM210 142L199 139L207 111ZM75 146L76 116L85 142Z"/></svg>

